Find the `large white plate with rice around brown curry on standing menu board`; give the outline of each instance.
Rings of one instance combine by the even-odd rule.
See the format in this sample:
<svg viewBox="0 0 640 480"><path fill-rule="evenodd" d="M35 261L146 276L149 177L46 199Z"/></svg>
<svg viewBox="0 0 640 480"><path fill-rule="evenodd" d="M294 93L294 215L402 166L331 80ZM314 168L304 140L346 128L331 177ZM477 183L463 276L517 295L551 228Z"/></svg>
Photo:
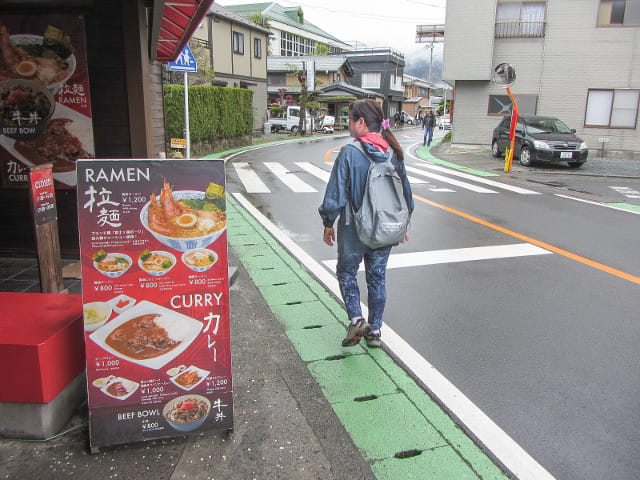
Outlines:
<svg viewBox="0 0 640 480"><path fill-rule="evenodd" d="M165 328L165 330L167 330L167 333L173 340L181 340L181 343L177 347L169 350L167 353L163 353L158 357L139 360L136 358L131 358L107 345L107 337L120 325L128 322L133 318L152 313L159 314L159 318L162 319L163 322L166 321L168 323L168 326L165 325L163 327ZM161 305L156 305L155 303L149 302L147 300L142 300L136 306L131 307L126 312L117 316L109 323L93 332L91 335L89 335L89 338L116 357L120 357L132 363L137 363L138 365L142 365L143 367L157 370L164 367L167 363L184 352L191 344L191 342L196 339L203 326L204 325L195 318L187 317L186 315L175 312Z"/></svg>

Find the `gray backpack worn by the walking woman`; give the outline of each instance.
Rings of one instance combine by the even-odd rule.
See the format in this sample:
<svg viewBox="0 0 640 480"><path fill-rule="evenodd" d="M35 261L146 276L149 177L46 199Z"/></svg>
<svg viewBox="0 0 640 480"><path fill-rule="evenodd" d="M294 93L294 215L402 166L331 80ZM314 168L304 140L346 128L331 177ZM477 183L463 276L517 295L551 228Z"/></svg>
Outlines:
<svg viewBox="0 0 640 480"><path fill-rule="evenodd" d="M403 195L402 179L391 163L373 161L360 142L352 144L369 159L362 206L353 210L353 223L360 241L369 248L380 248L404 240L411 214ZM388 150L387 150L388 152Z"/></svg>

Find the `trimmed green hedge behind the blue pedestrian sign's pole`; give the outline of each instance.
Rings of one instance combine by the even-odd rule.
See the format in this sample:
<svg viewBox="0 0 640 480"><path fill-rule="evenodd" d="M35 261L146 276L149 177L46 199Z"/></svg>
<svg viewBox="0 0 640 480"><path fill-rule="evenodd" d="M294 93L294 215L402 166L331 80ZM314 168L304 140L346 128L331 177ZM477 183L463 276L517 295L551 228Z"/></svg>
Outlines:
<svg viewBox="0 0 640 480"><path fill-rule="evenodd" d="M165 137L182 138L184 86L164 85ZM245 88L189 87L191 142L210 142L251 135L253 91Z"/></svg>

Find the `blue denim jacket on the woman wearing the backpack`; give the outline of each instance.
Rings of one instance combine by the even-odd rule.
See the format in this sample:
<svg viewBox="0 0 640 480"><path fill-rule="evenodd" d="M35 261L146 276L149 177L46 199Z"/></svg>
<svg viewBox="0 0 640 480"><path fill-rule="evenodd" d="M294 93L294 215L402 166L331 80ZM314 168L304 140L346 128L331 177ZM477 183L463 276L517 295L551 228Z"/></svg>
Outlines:
<svg viewBox="0 0 640 480"><path fill-rule="evenodd" d="M369 157L374 161L384 161L387 159L387 155L393 154L393 151L388 154L381 153L373 145L361 143L362 148L367 151ZM398 161L395 155L391 158L391 163L396 167L398 175L402 179L404 198L407 201L409 211L413 212L414 204L411 186L409 185L404 163ZM349 203L351 203L354 210L360 209L368 171L369 159L355 145L348 144L340 149L338 158L331 170L331 177L324 193L324 200L318 208L325 227L333 227L338 215L340 215L340 221L344 225L345 207Z"/></svg>

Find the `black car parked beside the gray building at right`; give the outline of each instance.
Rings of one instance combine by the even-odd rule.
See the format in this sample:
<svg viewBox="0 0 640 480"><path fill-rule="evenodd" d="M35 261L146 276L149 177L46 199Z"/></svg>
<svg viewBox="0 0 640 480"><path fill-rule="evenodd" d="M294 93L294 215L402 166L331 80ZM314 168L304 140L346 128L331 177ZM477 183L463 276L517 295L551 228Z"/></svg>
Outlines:
<svg viewBox="0 0 640 480"><path fill-rule="evenodd" d="M491 151L495 157L501 156L510 146L509 130L511 117L505 117L493 130ZM520 115L516 125L513 158L528 167L532 162L567 162L577 168L587 161L587 144L575 135L573 128L567 127L554 117Z"/></svg>

